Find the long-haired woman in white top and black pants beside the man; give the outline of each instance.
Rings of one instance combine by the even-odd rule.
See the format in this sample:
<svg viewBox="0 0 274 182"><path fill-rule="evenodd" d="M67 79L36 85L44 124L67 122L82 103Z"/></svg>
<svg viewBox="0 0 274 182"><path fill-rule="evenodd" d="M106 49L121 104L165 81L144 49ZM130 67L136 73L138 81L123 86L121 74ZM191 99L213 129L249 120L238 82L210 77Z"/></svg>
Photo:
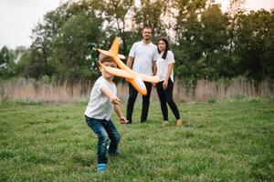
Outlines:
<svg viewBox="0 0 274 182"><path fill-rule="evenodd" d="M169 50L168 41L160 38L158 41L158 58L156 60L156 75L159 76L160 82L156 85L157 93L161 102L161 110L163 114L163 126L168 125L167 105L170 106L176 118L176 126L182 126L178 107L174 103L174 54Z"/></svg>

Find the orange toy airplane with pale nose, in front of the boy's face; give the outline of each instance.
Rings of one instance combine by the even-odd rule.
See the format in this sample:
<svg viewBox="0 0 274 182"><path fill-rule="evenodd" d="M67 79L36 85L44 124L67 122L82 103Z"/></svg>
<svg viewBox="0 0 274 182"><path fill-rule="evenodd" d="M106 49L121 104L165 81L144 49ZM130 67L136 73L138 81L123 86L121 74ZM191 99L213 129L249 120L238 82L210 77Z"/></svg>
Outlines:
<svg viewBox="0 0 274 182"><path fill-rule="evenodd" d="M103 55L111 56L113 58L113 60L115 61L115 63L117 64L117 66L120 67L120 69L113 68L110 66L103 66L102 64L100 64L100 66L104 67L104 69L107 72L109 72L111 75L121 76L121 77L126 78L126 80L128 82L130 82L132 84L132 86L140 94L142 94L142 96L146 96L147 91L146 91L146 87L145 87L143 81L151 82L151 83L158 83L159 82L158 76L145 76L142 74L138 74L138 73L132 71L132 69L129 68L128 66L124 65L124 63L121 61L121 59L124 59L125 56L118 54L119 53L119 44L120 44L120 38L115 37L115 39L111 45L111 49L109 51L101 50L99 48L98 48L98 50Z"/></svg>

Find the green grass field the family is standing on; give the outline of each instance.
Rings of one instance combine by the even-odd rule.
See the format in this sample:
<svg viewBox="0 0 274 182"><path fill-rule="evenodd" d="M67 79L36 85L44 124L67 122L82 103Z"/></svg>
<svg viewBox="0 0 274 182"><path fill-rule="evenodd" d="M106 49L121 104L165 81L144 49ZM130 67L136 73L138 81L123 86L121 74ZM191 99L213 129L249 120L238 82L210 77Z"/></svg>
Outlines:
<svg viewBox="0 0 274 182"><path fill-rule="evenodd" d="M140 124L136 103L103 174L85 107L0 103L0 181L274 181L273 102L182 104L182 127L161 126L157 103Z"/></svg>

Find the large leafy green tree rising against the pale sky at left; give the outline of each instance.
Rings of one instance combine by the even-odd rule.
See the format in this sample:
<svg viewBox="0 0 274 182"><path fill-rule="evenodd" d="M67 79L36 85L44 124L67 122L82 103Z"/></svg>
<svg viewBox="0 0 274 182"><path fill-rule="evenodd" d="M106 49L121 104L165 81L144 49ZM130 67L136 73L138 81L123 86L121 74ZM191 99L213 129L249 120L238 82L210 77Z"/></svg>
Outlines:
<svg viewBox="0 0 274 182"><path fill-rule="evenodd" d="M77 80L97 75L96 47L103 34L94 11L90 1L83 0L48 12L33 30L26 76Z"/></svg>

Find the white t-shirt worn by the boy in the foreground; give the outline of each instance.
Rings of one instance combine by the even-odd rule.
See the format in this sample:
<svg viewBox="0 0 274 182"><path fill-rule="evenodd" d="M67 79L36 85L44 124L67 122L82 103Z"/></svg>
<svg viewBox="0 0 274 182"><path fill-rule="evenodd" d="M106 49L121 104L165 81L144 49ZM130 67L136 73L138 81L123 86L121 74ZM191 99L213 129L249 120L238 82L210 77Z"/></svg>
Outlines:
<svg viewBox="0 0 274 182"><path fill-rule="evenodd" d="M117 95L117 87L115 84L108 82L103 76L100 76L92 87L85 116L110 120L114 106L111 103L111 99L101 92L102 86L107 86L115 96Z"/></svg>

